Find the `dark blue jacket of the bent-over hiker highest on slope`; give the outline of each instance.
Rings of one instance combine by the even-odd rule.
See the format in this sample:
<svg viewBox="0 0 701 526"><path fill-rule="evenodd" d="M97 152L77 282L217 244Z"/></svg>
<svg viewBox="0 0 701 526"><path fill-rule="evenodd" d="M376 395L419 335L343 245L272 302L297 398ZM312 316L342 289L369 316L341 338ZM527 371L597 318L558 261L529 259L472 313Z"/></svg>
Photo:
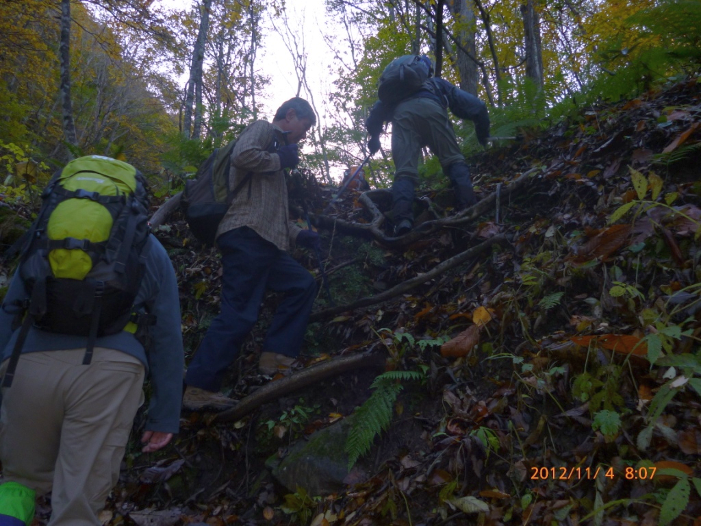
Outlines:
<svg viewBox="0 0 701 526"><path fill-rule="evenodd" d="M470 119L475 123L475 133L477 140L481 144L486 143L489 137L489 112L486 104L475 95L463 91L447 80L433 77L424 83L425 88L411 95L408 99L418 97L428 97L437 101L442 107L450 108L450 111L460 119ZM399 104L404 102L402 100ZM375 102L370 110L370 114L365 121L365 127L370 137L377 137L382 132L384 123L392 120L392 116L397 104L384 104L380 100Z"/></svg>

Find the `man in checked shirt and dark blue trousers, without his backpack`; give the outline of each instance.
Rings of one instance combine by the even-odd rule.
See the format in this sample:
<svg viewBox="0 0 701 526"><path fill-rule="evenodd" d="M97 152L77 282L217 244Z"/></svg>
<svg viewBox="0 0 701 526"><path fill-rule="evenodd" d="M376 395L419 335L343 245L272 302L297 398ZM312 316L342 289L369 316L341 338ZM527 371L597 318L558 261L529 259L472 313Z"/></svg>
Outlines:
<svg viewBox="0 0 701 526"><path fill-rule="evenodd" d="M311 105L294 97L278 108L272 123L247 126L231 150L233 195L215 234L222 252L222 310L187 368L186 409L236 404L219 390L258 319L266 290L284 296L262 344L259 372L272 376L289 370L299 355L317 288L288 251L294 245L314 248L319 236L290 222L285 168L299 163L297 143L315 122Z"/></svg>

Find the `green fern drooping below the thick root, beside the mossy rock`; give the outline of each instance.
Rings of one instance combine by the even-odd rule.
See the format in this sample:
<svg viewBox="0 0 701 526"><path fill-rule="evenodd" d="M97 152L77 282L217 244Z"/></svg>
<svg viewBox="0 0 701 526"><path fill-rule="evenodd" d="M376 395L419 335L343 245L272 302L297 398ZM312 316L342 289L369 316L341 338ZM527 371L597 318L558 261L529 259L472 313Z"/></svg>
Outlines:
<svg viewBox="0 0 701 526"><path fill-rule="evenodd" d="M404 389L401 382L423 379L418 371L388 371L374 379L370 398L355 409L351 417L351 430L346 440L348 470L366 454L377 435L385 431L392 422L393 406L397 396Z"/></svg>

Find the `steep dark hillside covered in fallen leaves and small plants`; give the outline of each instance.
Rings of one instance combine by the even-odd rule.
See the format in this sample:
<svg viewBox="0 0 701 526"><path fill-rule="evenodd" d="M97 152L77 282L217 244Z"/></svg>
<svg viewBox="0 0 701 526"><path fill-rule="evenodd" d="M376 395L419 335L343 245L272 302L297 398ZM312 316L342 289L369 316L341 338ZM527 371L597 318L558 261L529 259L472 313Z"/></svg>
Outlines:
<svg viewBox="0 0 701 526"><path fill-rule="evenodd" d="M130 448L104 519L700 522L700 126L692 80L522 130L469 160L474 210L456 215L449 191L422 189L423 225L403 239L378 216L386 192L349 192L323 214L334 189L307 187L330 285L327 295L313 253L295 254L320 283L307 368L362 353L380 367L327 376L232 422L184 412L164 452ZM218 311L217 252L179 213L156 234L192 353ZM233 367L234 398L285 381L255 372L274 306L271 295ZM393 381L404 388L393 421L345 487L316 497L306 480L271 478L268 457L348 418L387 370L418 374Z"/></svg>

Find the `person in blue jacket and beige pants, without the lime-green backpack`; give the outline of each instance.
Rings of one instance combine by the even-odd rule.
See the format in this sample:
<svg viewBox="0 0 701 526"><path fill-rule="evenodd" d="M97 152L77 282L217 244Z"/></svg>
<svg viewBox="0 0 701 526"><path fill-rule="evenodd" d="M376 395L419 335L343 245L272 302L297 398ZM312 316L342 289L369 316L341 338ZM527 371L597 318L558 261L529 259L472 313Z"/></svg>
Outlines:
<svg viewBox="0 0 701 526"><path fill-rule="evenodd" d="M51 491L51 526L100 525L98 513L116 484L132 421L144 395L153 394L143 452L167 445L179 427L184 358L175 271L154 236L144 251L146 272L135 304L156 316L144 350L132 332L97 337L90 365L82 365L86 337L29 329L14 381L0 406L0 525L32 522L35 494ZM0 375L19 330L6 307L27 297L13 276L0 310Z"/></svg>

